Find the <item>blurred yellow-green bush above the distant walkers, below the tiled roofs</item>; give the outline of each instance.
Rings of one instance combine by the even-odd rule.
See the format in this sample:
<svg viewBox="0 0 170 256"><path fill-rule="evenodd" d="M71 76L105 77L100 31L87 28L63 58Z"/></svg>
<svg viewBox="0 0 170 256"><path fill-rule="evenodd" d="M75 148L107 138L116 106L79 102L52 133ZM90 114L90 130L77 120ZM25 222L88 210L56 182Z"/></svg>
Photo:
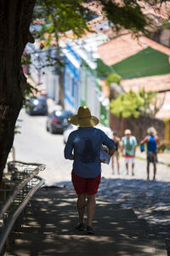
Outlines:
<svg viewBox="0 0 170 256"><path fill-rule="evenodd" d="M157 107L156 92L139 90L135 93L129 90L118 96L116 100L110 103L111 113L116 117L129 118L133 116L138 118L140 114L155 116L160 108Z"/></svg>

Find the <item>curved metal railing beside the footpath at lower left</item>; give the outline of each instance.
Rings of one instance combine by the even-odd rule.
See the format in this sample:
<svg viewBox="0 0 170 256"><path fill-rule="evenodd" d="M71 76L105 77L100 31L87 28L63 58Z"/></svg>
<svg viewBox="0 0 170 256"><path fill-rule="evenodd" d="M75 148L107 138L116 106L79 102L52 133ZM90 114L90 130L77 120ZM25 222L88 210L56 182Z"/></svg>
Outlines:
<svg viewBox="0 0 170 256"><path fill-rule="evenodd" d="M21 161L11 161L8 163L8 182L7 189L4 193L13 191L8 195L8 200L3 202L3 207L0 210L0 220L2 222L2 231L0 234L0 255L3 255L5 244L8 240L14 224L18 221L21 225L21 212L26 209L26 205L31 199L31 196L39 189L44 180L38 177L37 174L46 168L45 165L37 163L24 163ZM4 196L6 199L6 194ZM26 214L26 212L25 212ZM19 226L16 224L16 226Z"/></svg>

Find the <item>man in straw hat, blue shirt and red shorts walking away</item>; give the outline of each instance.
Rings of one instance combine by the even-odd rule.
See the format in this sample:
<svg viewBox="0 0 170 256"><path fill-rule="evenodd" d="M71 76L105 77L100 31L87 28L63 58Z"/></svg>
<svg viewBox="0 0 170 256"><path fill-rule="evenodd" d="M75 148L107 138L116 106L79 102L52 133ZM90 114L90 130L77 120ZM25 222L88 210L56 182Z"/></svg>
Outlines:
<svg viewBox="0 0 170 256"><path fill-rule="evenodd" d="M94 234L92 221L95 212L95 195L99 188L101 177L100 150L102 145L109 148L109 154L114 154L115 143L107 137L104 131L94 128L99 119L92 116L86 106L80 107L77 114L68 119L71 124L79 126L72 131L65 145L65 159L74 160L71 180L77 192L77 210L79 221L77 230L85 230L84 210L88 209L88 234Z"/></svg>

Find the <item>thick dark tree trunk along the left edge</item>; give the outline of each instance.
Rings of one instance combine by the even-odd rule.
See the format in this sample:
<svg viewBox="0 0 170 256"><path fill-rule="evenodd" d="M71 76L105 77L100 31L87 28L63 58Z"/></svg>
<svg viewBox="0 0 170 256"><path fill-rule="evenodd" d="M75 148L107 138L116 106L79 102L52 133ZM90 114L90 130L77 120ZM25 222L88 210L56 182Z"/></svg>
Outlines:
<svg viewBox="0 0 170 256"><path fill-rule="evenodd" d="M29 26L35 2L0 0L0 183L26 90L21 56L26 44L33 43Z"/></svg>

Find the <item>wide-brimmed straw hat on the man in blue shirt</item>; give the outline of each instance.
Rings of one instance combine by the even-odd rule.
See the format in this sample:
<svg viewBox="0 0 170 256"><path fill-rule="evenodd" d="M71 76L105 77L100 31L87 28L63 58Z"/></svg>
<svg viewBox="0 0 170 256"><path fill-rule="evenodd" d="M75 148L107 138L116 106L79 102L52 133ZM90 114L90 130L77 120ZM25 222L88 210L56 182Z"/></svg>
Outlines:
<svg viewBox="0 0 170 256"><path fill-rule="evenodd" d="M68 118L69 122L79 127L92 127L99 124L99 119L91 115L90 110L86 106L78 108L77 114Z"/></svg>

